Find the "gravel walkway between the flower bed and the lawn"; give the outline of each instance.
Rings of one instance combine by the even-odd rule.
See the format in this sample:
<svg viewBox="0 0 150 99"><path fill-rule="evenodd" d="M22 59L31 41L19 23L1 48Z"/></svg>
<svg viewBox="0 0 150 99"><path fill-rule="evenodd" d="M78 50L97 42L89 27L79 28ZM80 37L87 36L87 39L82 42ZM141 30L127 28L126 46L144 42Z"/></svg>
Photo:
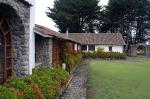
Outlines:
<svg viewBox="0 0 150 99"><path fill-rule="evenodd" d="M87 61L83 61L73 75L70 85L63 94L63 99L86 99Z"/></svg>

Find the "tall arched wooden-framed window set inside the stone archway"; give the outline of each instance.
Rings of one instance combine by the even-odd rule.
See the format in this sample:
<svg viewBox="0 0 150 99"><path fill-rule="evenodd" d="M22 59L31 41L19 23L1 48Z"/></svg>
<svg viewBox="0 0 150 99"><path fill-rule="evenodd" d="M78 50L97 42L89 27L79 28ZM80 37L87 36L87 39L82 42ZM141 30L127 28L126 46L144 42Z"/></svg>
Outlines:
<svg viewBox="0 0 150 99"><path fill-rule="evenodd" d="M0 19L0 83L7 81L13 74L12 40L8 20Z"/></svg>

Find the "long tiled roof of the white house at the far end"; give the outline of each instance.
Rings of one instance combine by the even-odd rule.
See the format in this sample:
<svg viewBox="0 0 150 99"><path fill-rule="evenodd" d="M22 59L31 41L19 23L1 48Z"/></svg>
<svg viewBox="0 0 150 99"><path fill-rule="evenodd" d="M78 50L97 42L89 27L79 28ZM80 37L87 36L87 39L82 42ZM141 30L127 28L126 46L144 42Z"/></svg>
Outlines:
<svg viewBox="0 0 150 99"><path fill-rule="evenodd" d="M81 44L125 45L121 33L69 33L69 37Z"/></svg>

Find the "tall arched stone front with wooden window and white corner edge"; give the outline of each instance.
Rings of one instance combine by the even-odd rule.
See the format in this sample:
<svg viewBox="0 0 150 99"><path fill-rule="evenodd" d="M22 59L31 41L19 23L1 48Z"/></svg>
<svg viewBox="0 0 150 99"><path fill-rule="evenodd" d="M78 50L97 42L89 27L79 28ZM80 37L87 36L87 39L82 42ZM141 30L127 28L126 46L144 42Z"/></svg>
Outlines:
<svg viewBox="0 0 150 99"><path fill-rule="evenodd" d="M0 81L32 73L35 0L0 0Z"/></svg>

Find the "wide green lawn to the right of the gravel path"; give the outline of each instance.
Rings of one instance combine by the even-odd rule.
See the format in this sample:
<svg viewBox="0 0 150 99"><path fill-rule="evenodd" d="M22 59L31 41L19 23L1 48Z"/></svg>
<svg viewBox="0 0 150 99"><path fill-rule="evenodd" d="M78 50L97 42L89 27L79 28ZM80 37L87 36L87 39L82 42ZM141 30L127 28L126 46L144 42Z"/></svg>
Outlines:
<svg viewBox="0 0 150 99"><path fill-rule="evenodd" d="M89 62L89 99L150 99L150 58Z"/></svg>

